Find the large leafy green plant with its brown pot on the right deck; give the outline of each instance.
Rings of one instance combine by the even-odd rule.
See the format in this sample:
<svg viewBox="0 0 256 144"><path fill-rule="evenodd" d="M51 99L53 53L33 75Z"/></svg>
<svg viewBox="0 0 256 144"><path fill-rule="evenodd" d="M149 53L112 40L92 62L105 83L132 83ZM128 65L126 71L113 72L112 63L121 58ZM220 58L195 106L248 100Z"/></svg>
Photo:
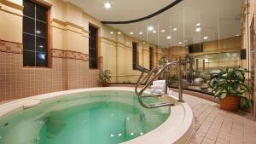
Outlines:
<svg viewBox="0 0 256 144"><path fill-rule="evenodd" d="M218 97L220 107L227 111L236 111L238 107L252 107L252 101L244 95L252 90L245 84L245 73L242 68L227 68L220 71L218 77L212 78L209 86L214 97Z"/></svg>

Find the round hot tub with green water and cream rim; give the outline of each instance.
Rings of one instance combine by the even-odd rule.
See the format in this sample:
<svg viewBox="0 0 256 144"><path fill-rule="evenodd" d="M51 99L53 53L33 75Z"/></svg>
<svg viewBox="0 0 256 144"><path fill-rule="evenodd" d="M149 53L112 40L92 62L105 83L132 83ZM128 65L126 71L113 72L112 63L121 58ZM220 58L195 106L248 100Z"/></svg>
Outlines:
<svg viewBox="0 0 256 144"><path fill-rule="evenodd" d="M67 90L0 105L0 144L185 143L193 129L186 103L143 108L130 88Z"/></svg>

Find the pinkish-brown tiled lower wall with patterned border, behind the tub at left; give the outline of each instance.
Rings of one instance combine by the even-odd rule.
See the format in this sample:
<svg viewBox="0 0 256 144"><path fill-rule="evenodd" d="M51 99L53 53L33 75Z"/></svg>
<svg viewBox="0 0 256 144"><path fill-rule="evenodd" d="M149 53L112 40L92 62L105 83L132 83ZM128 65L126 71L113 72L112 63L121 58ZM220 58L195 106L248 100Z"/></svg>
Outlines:
<svg viewBox="0 0 256 144"><path fill-rule="evenodd" d="M98 86L98 70L89 69L88 56L53 50L51 68L22 66L22 45L0 41L0 101Z"/></svg>

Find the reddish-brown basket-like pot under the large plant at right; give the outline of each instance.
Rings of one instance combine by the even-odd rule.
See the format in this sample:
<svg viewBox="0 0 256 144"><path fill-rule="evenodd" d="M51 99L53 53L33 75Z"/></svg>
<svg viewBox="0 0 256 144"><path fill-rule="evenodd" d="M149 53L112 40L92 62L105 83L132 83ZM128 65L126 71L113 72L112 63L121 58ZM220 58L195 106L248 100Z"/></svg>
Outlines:
<svg viewBox="0 0 256 144"><path fill-rule="evenodd" d="M220 108L226 111L236 111L239 107L240 96L227 95L222 101L219 102Z"/></svg>

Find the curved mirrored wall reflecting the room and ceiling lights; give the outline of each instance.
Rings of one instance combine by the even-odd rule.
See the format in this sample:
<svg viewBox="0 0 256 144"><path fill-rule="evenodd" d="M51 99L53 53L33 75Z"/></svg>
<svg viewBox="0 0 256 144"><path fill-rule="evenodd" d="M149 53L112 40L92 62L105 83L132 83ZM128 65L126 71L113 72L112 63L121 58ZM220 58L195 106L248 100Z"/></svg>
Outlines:
<svg viewBox="0 0 256 144"><path fill-rule="evenodd" d="M244 5L243 0L183 0L147 20L105 24L103 33L113 40L109 49L114 52L103 53L110 61L116 55L116 83L136 83L140 72L134 65L150 69L162 57L189 59L183 65L183 88L210 93L212 72L247 68ZM111 69L108 62L104 66ZM174 68L168 78L177 87Z"/></svg>

